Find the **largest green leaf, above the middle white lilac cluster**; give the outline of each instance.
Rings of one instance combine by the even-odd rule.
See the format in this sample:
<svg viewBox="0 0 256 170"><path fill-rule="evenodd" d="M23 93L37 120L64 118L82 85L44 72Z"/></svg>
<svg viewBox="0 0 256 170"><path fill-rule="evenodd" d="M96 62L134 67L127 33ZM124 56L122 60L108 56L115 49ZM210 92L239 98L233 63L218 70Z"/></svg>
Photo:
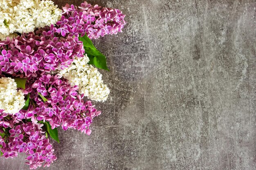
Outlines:
<svg viewBox="0 0 256 170"><path fill-rule="evenodd" d="M103 55L101 52L99 52L99 50L95 48L90 38L88 38L88 36L85 34L83 37L79 37L79 41L83 42L85 53L90 59L88 64L109 71L105 55Z"/></svg>

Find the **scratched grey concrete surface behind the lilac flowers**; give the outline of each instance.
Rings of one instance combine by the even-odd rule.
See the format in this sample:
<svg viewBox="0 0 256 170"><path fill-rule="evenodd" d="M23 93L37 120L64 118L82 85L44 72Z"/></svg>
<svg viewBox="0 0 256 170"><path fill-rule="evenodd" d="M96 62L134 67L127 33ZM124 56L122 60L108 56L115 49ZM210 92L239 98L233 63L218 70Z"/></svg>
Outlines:
<svg viewBox="0 0 256 170"><path fill-rule="evenodd" d="M111 94L94 102L102 115L90 136L58 129L58 159L45 169L256 170L256 1L90 3L128 22L93 41ZM0 159L0 170L28 170L24 159Z"/></svg>

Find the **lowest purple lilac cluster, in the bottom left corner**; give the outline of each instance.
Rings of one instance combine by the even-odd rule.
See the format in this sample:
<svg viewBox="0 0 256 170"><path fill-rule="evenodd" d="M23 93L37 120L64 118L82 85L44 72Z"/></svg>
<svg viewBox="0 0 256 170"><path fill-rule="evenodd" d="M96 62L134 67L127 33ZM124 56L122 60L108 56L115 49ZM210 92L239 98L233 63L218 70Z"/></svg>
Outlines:
<svg viewBox="0 0 256 170"><path fill-rule="evenodd" d="M20 115L23 115L22 117ZM50 166L56 160L54 149L45 137L43 124L23 121L26 114L8 115L0 110L0 152L4 158L17 157L18 153L28 155L26 164L30 169Z"/></svg>

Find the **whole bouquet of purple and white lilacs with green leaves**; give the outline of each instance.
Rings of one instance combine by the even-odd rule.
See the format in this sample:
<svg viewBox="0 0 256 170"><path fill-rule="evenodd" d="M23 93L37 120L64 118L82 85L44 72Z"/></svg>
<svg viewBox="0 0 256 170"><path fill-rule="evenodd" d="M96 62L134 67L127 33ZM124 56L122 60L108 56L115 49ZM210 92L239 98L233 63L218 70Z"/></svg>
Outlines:
<svg viewBox="0 0 256 170"><path fill-rule="evenodd" d="M91 39L121 32L125 15L87 2L61 10L50 0L0 0L0 11L0 156L25 152L30 169L50 166L57 127L90 135L101 114L91 100L108 98L97 69L108 67Z"/></svg>

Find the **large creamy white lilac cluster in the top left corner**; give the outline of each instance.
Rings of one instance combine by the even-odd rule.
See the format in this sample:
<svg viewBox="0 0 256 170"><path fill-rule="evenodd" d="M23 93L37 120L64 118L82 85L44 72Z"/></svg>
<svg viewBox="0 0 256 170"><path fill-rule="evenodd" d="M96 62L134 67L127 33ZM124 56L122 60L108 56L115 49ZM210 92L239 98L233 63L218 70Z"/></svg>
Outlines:
<svg viewBox="0 0 256 170"><path fill-rule="evenodd" d="M55 24L61 12L51 0L0 0L0 40Z"/></svg>

